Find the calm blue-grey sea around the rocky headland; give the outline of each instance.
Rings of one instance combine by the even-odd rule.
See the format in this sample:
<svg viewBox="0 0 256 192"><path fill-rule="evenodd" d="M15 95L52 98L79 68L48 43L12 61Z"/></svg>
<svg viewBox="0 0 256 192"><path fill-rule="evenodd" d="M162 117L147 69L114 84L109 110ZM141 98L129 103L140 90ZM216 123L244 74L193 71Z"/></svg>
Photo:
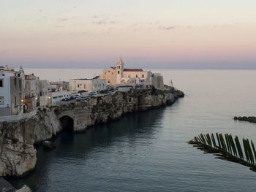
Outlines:
<svg viewBox="0 0 256 192"><path fill-rule="evenodd" d="M93 77L99 69L29 69L41 79ZM255 191L256 173L203 154L187 141L229 133L256 142L256 71L157 70L187 96L172 107L136 112L83 134L59 134L38 149L35 172L12 184L33 191ZM61 77L59 77L61 76Z"/></svg>

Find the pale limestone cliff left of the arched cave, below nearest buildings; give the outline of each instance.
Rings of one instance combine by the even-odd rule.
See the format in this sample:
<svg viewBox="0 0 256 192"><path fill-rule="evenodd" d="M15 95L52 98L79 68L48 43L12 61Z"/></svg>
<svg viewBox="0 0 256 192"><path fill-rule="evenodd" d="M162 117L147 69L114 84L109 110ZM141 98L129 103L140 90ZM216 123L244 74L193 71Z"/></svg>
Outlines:
<svg viewBox="0 0 256 192"><path fill-rule="evenodd" d="M22 176L37 162L35 142L53 137L61 130L51 110L38 111L29 119L0 123L0 176Z"/></svg>

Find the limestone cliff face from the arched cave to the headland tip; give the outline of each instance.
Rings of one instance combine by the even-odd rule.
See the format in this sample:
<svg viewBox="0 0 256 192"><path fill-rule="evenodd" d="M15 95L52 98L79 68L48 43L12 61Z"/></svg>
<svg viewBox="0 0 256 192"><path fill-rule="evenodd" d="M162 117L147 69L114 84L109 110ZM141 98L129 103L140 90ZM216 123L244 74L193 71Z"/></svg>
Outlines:
<svg viewBox="0 0 256 192"><path fill-rule="evenodd" d="M182 95L183 94L183 95ZM105 96L66 102L55 107L56 115L68 116L74 120L74 131L85 131L95 123L105 123L121 117L127 112L148 110L173 104L184 96L176 90L140 90L116 92Z"/></svg>

